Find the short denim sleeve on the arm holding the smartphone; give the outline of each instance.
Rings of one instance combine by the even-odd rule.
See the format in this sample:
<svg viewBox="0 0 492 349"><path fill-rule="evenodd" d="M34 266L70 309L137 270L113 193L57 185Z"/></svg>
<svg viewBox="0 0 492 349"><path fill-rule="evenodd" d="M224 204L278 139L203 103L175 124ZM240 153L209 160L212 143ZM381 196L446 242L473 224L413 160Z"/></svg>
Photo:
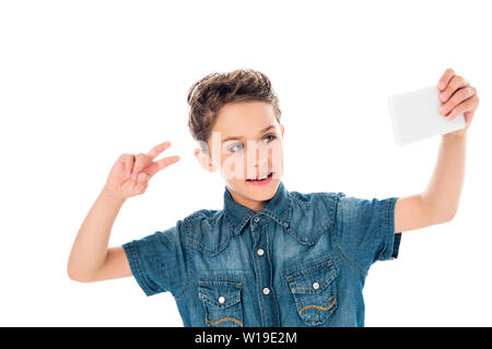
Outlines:
<svg viewBox="0 0 492 349"><path fill-rule="evenodd" d="M399 197L339 197L337 206L337 242L355 266L367 273L376 261L398 256L401 233L395 233L395 205Z"/></svg>

